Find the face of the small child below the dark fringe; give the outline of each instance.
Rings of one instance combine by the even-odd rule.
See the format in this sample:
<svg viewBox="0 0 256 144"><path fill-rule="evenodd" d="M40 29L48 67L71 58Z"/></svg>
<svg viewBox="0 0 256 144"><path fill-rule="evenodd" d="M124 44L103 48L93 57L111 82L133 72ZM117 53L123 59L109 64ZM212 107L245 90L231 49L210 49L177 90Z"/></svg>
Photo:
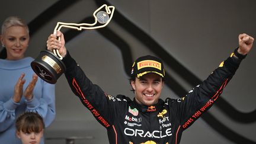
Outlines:
<svg viewBox="0 0 256 144"><path fill-rule="evenodd" d="M41 130L39 133L24 133L22 130L17 132L17 137L21 139L23 144L39 144L42 136L43 130Z"/></svg>

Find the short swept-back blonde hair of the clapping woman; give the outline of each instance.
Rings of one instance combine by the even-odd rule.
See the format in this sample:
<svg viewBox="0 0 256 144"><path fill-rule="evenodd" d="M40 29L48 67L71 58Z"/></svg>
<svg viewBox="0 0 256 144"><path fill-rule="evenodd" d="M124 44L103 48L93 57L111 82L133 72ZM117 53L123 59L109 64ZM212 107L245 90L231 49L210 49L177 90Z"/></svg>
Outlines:
<svg viewBox="0 0 256 144"><path fill-rule="evenodd" d="M4 23L2 24L2 34L5 33L5 30L7 30L7 28L12 27L12 26L21 26L24 27L28 34L29 34L29 29L28 29L28 25L27 23L25 23L24 20L22 20L21 18L17 17L17 16L11 16L5 19Z"/></svg>

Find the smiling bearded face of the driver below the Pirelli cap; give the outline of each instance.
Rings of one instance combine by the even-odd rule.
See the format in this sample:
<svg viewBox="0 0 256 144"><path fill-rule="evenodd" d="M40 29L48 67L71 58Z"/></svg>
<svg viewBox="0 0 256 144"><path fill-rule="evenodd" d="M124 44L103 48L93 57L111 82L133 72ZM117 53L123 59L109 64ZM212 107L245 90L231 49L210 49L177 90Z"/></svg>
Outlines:
<svg viewBox="0 0 256 144"><path fill-rule="evenodd" d="M161 76L156 73L148 73L130 82L135 90L137 103L148 106L158 103L164 85Z"/></svg>

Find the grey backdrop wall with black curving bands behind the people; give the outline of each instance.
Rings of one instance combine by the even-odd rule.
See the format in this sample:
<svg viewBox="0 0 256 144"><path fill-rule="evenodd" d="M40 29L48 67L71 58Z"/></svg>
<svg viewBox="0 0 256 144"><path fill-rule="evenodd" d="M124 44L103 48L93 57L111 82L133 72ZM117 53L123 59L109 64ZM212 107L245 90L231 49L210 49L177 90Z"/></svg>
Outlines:
<svg viewBox="0 0 256 144"><path fill-rule="evenodd" d="M133 98L128 73L142 55L161 57L167 81L162 98L179 98L207 78L233 49L238 34L256 38L256 1L110 0L2 1L0 22L18 15L30 27L27 56L36 58L58 21L94 23L103 4L116 7L113 20L98 30L63 28L66 47L87 76L108 94ZM181 143L255 143L255 45L209 113L183 134ZM107 131L80 104L62 75L56 84L56 119L46 143L108 143ZM53 139L52 139L53 138Z"/></svg>

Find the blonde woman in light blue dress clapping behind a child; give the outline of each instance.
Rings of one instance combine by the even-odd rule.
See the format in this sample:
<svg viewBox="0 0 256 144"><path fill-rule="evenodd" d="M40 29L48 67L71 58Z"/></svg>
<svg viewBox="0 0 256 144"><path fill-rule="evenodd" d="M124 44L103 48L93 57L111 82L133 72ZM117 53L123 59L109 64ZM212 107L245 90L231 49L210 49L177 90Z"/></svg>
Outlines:
<svg viewBox="0 0 256 144"><path fill-rule="evenodd" d="M28 26L20 18L8 17L2 24L1 43L7 52L0 59L2 144L21 143L15 136L15 119L25 111L39 113L46 127L55 119L55 85L44 82L31 69L33 58L24 56L29 39Z"/></svg>

